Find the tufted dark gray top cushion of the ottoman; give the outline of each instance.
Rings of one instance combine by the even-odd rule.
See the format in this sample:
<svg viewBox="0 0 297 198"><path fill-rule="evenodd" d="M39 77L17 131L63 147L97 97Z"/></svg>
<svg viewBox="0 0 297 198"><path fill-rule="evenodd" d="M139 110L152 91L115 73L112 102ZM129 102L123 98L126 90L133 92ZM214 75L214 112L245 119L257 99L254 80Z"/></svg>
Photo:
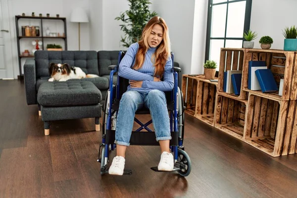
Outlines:
<svg viewBox="0 0 297 198"><path fill-rule="evenodd" d="M37 101L42 106L77 106L98 104L101 92L88 81L44 82Z"/></svg>

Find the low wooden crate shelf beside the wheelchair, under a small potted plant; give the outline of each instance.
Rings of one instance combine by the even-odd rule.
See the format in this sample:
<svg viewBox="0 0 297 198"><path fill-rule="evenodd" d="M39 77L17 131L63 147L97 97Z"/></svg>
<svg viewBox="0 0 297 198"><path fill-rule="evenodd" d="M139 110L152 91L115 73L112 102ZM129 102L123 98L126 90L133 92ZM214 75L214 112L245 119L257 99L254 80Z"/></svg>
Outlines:
<svg viewBox="0 0 297 198"><path fill-rule="evenodd" d="M185 112L214 126L217 82L210 82L203 75L183 75L182 84L184 101L187 101Z"/></svg>

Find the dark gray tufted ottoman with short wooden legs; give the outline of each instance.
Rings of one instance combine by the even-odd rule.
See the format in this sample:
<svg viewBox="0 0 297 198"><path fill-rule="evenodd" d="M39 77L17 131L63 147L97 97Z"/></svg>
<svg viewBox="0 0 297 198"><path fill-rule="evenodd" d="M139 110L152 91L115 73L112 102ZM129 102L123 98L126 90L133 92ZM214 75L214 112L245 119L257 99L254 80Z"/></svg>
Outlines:
<svg viewBox="0 0 297 198"><path fill-rule="evenodd" d="M45 135L49 135L49 121L95 118L96 131L100 130L101 92L88 81L45 82L38 90Z"/></svg>

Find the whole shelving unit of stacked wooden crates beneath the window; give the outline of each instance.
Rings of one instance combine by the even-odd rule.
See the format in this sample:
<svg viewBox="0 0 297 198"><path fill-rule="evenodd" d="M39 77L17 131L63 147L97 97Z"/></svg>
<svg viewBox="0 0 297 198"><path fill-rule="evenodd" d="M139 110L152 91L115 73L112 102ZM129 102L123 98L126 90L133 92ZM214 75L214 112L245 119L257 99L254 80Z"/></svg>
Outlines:
<svg viewBox="0 0 297 198"><path fill-rule="evenodd" d="M282 96L247 89L250 60L266 61L278 86L284 79ZM297 153L297 52L222 48L219 67L218 83L212 83L217 88L213 114L205 107L212 96L205 84L211 82L202 75L183 75L185 112L273 157ZM242 70L239 96L223 92L228 70ZM185 98L186 90L191 99Z"/></svg>

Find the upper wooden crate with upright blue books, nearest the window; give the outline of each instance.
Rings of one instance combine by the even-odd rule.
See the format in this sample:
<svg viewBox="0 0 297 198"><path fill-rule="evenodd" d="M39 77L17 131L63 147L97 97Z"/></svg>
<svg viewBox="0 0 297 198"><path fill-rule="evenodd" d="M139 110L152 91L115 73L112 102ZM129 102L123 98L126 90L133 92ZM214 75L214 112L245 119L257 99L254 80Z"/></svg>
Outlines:
<svg viewBox="0 0 297 198"><path fill-rule="evenodd" d="M246 78L247 71L243 70L245 62L246 49L234 49L234 48L222 48L220 52L220 64L219 64L219 81L218 81L218 93L229 95L229 98L233 99L247 99L247 93L241 89L240 95L225 93L224 88L224 72L228 70L241 70L242 78ZM242 79L242 83L245 80ZM243 85L242 85L243 86Z"/></svg>

